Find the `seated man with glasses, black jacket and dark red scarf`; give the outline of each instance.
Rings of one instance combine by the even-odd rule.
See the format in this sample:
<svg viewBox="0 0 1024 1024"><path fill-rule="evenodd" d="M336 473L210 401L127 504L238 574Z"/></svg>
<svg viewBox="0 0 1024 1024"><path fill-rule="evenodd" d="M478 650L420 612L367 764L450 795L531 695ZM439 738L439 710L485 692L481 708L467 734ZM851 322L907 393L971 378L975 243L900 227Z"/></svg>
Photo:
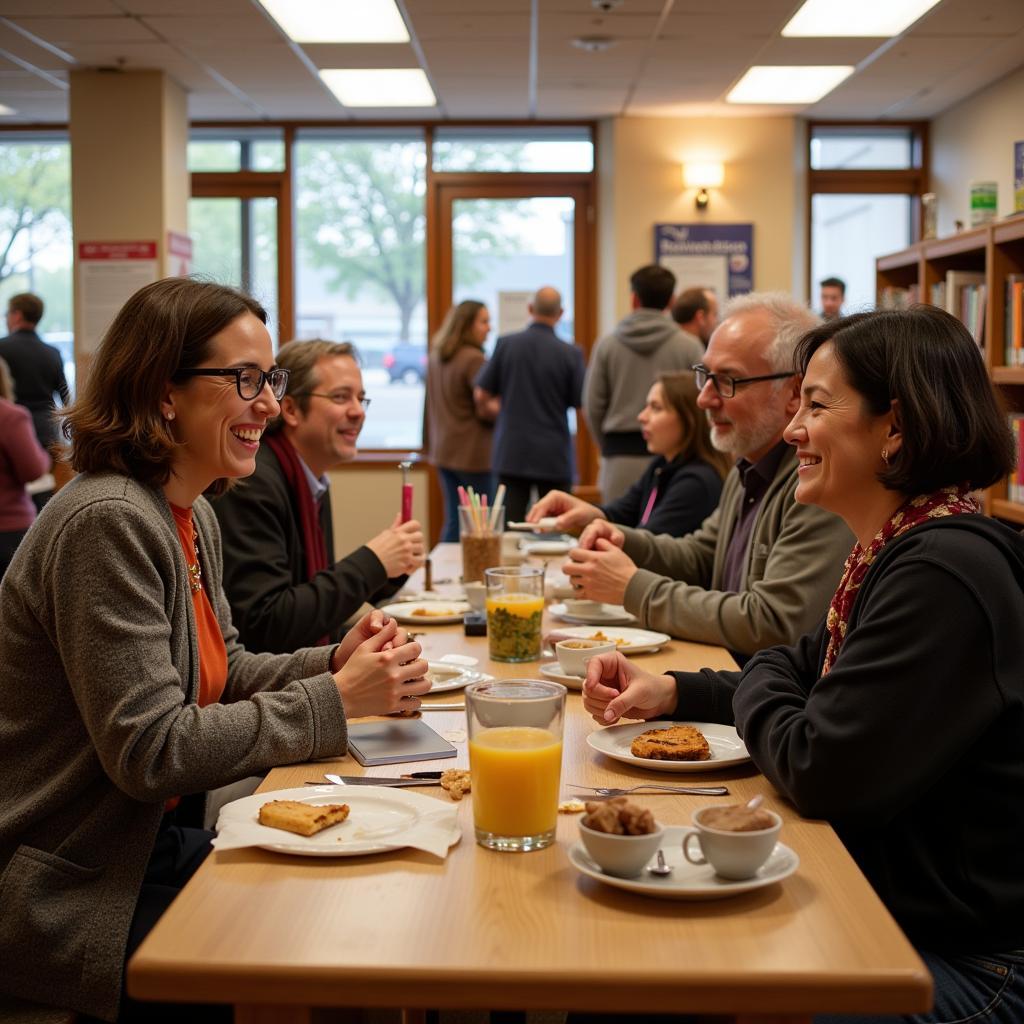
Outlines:
<svg viewBox="0 0 1024 1024"><path fill-rule="evenodd" d="M355 457L370 404L357 354L347 342L293 341L278 366L288 387L256 472L213 502L232 622L249 650L271 652L336 640L364 602L393 594L424 557L420 524L395 515L335 560L327 474Z"/></svg>

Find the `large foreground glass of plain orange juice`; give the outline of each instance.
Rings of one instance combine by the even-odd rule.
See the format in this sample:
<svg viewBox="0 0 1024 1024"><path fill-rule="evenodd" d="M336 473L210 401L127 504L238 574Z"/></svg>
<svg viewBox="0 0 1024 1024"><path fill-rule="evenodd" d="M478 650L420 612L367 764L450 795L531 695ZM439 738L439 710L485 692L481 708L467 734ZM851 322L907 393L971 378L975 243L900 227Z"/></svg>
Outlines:
<svg viewBox="0 0 1024 1024"><path fill-rule="evenodd" d="M555 841L565 687L492 679L466 687L476 842L525 853Z"/></svg>

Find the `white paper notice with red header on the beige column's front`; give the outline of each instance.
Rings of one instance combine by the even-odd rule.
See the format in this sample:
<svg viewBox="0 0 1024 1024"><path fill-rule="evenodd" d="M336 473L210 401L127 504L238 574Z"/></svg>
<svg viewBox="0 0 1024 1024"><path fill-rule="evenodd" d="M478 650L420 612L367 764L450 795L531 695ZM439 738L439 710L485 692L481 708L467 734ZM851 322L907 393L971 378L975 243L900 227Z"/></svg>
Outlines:
<svg viewBox="0 0 1024 1024"><path fill-rule="evenodd" d="M156 242L80 242L78 351L95 352L118 310L158 272Z"/></svg>

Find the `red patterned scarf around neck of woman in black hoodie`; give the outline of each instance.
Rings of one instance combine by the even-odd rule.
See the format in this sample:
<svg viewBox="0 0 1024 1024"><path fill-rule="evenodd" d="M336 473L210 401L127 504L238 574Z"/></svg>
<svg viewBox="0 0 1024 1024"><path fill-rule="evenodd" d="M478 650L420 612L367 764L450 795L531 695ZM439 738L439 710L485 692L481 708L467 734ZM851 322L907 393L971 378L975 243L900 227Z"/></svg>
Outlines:
<svg viewBox="0 0 1024 1024"><path fill-rule="evenodd" d="M828 605L828 617L825 620L825 629L828 631L828 648L825 651L824 664L821 666L822 676L828 675L829 670L836 664L836 658L839 657L839 649L846 638L850 612L853 609L857 591L879 552L894 537L899 537L900 534L905 534L908 529L913 529L914 526L920 526L929 519L941 519L947 515L969 515L980 511L981 508L977 501L971 497L968 487L941 487L930 495L918 495L916 498L904 502L892 514L882 529L874 535L874 539L867 546L866 551L859 544L854 545L843 568L843 579L840 580L831 604Z"/></svg>

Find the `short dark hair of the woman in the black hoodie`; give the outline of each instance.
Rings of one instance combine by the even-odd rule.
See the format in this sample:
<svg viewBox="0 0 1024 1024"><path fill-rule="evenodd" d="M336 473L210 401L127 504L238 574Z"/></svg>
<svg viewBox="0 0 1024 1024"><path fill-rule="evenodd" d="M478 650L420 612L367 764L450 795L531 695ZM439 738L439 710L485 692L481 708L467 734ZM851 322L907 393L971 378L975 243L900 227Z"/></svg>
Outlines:
<svg viewBox="0 0 1024 1024"><path fill-rule="evenodd" d="M987 487L1013 469L1013 434L981 351L955 316L935 306L841 316L809 331L797 366L831 342L867 412L899 402L903 443L879 480L907 497L966 484Z"/></svg>

